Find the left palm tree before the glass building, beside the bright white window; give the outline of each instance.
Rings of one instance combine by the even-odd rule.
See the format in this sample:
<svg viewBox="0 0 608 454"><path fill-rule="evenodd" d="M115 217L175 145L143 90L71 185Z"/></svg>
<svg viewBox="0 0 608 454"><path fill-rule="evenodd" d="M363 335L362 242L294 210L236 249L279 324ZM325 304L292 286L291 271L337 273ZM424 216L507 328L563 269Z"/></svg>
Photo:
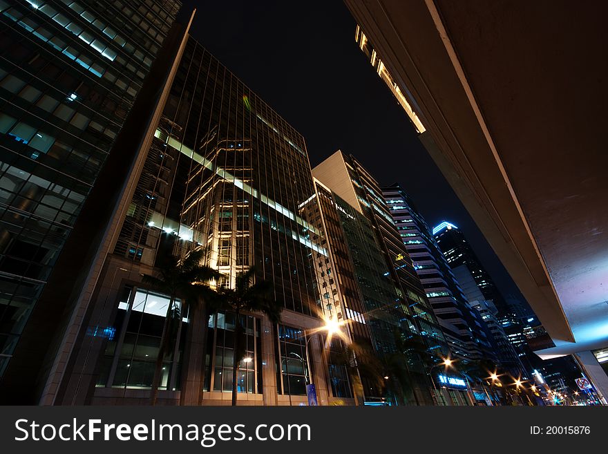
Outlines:
<svg viewBox="0 0 608 454"><path fill-rule="evenodd" d="M144 274L143 281L152 285L155 289L169 294L169 305L164 318L160 347L156 357L152 388L150 391L150 403L155 405L158 399L158 386L162 375L162 363L169 353L169 347L176 341L182 323L182 309L175 304L175 299L180 296L184 301L200 301L201 292L209 292L208 283L219 276L215 269L200 265L205 251L199 249L190 252L184 259L176 256L164 256L160 259L158 266L159 276Z"/></svg>

